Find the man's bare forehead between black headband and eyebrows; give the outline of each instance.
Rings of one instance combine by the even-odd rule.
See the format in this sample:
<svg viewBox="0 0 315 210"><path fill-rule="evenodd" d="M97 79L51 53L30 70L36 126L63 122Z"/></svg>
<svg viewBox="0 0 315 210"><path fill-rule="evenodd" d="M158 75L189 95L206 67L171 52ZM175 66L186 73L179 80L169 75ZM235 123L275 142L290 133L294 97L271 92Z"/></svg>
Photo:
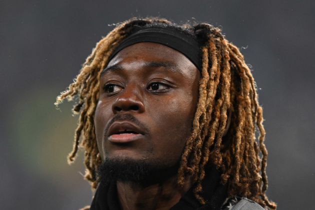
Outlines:
<svg viewBox="0 0 315 210"><path fill-rule="evenodd" d="M132 44L120 50L107 64L104 69L112 66L141 67L150 65L155 67L166 67L173 71L185 71L185 73L199 72L196 66L181 52L168 46L153 43L140 42Z"/></svg>

